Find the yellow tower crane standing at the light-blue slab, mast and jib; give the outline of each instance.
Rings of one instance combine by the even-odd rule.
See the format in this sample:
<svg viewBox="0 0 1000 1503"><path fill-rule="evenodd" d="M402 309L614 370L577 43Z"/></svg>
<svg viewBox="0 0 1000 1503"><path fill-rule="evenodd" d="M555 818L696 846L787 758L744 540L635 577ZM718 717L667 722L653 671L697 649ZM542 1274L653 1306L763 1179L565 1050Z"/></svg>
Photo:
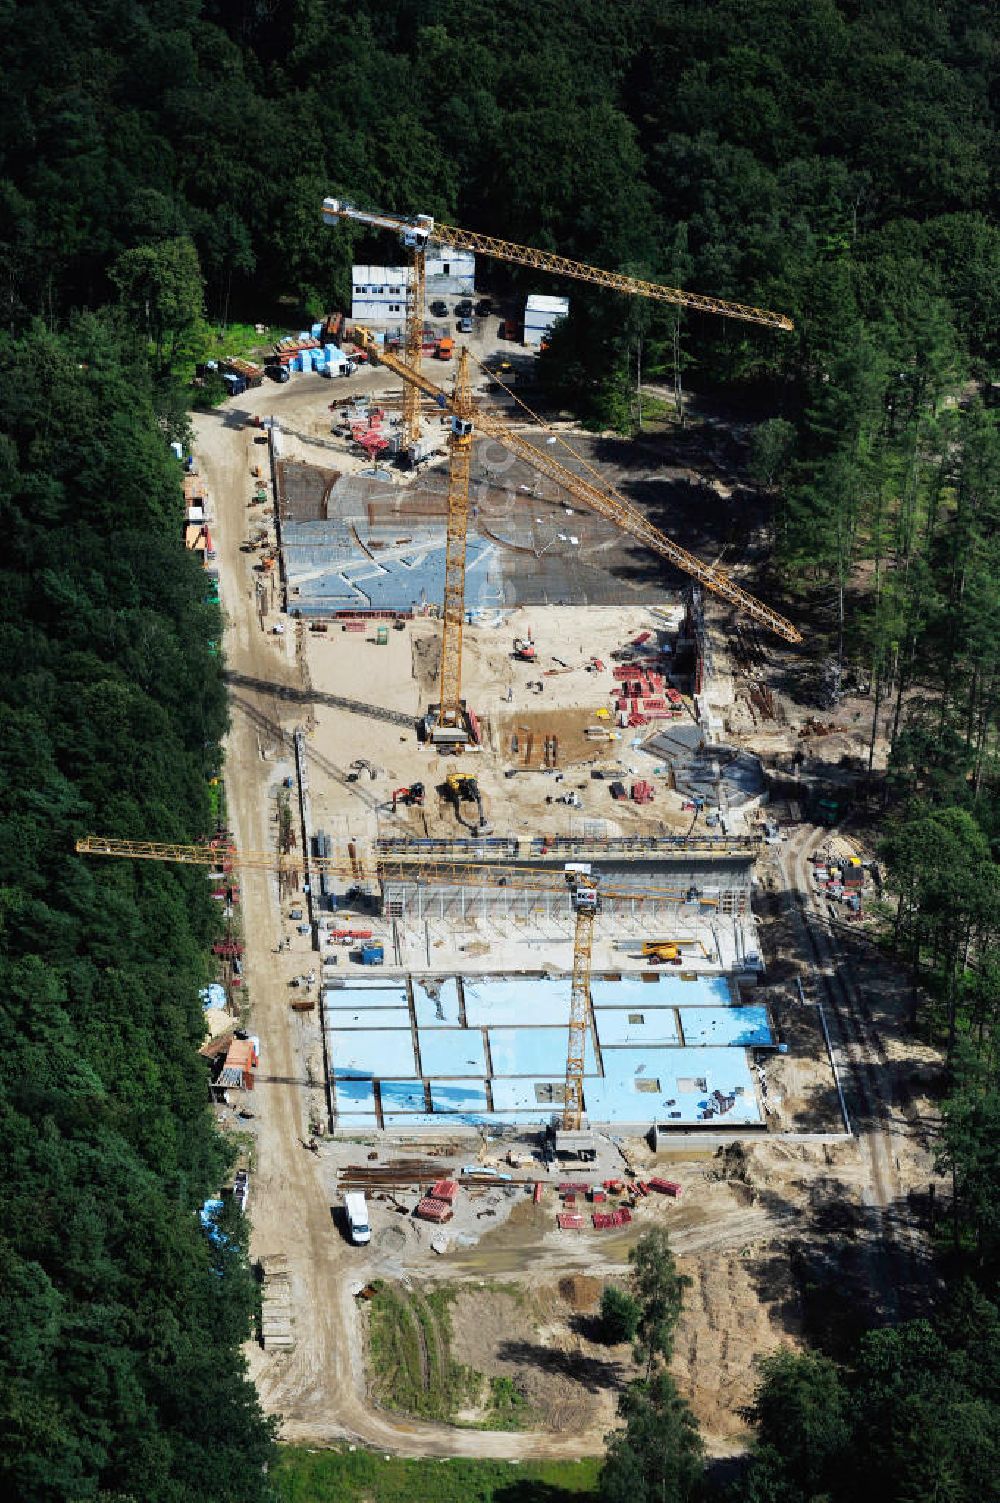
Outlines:
<svg viewBox="0 0 1000 1503"><path fill-rule="evenodd" d="M750 852L752 845L740 843ZM278 855L274 851L239 851L227 845L185 845L180 842L159 840L116 840L104 836L84 836L77 840L77 851L81 855L125 857L138 861L179 861L185 866L218 866L220 861L232 861L236 866L287 872L296 867L296 858ZM356 858L343 860L310 858L310 867L316 873L329 876L344 876L353 882L377 882L385 888L386 882L408 881L448 885L504 885L513 891L559 893L567 891L573 905L573 975L570 983L570 1024L565 1054L565 1087L562 1094L561 1129L556 1132L556 1151L588 1156L592 1153L589 1135L583 1130L583 1072L586 1066L586 1033L591 1027L591 953L594 945L594 920L600 908L600 896L621 899L626 902L650 902L671 899L687 902L687 888L651 887L644 884L639 891L623 887L602 887L600 878L591 870L589 863L568 863L562 870L544 870L532 866L516 866L508 863L474 863L474 861L426 861L415 855L379 858L365 864ZM713 899L698 899L702 906L714 906ZM559 1136L559 1135L565 1136Z"/></svg>

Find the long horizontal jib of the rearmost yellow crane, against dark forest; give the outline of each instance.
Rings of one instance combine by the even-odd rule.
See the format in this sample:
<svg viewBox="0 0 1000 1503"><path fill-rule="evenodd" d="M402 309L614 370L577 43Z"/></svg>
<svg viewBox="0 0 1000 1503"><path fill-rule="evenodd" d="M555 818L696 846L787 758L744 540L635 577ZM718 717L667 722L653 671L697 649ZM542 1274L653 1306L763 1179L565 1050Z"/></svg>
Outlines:
<svg viewBox="0 0 1000 1503"><path fill-rule="evenodd" d="M323 198L323 222L337 224L338 219L355 219L361 224L370 224L373 228L394 230L400 236L411 237L409 242L405 239L411 248L417 242L426 245L429 240L436 245L454 245L457 249L478 251L480 256L490 256L493 260L510 262L514 266L532 266L556 277L571 277L574 281L591 283L594 287L608 287L612 292L624 292L636 298L651 298L656 302L671 302L696 313L714 313L726 319L740 319L743 323L759 323L768 329L788 331L795 328L783 313L771 313L770 308L728 302L725 298L710 298L705 293L644 281L641 277L627 277L624 272L609 272L602 266L588 266L585 262L573 262L567 256L555 256L552 251L538 251L531 245L501 240L495 234L480 234L475 230L460 230L454 224L441 224L426 213L408 218L406 215L358 209L343 198Z"/></svg>

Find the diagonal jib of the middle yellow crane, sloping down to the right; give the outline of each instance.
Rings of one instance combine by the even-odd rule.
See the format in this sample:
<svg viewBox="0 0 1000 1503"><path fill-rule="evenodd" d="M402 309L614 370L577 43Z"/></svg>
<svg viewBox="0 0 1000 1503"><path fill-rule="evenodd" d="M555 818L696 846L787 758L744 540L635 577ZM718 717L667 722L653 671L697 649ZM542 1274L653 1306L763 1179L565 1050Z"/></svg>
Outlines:
<svg viewBox="0 0 1000 1503"><path fill-rule="evenodd" d="M456 410L453 398L442 386L438 386L436 382L433 382L429 376L424 376L423 371L412 370L406 361L400 361L395 355L380 349L368 329L356 328L355 341L368 350L368 353L380 361L380 364L388 370L402 376L405 382L417 386L424 392L424 395L432 397L439 407L444 407L447 412ZM565 467L565 464L559 464L559 461L550 454L546 454L544 449L535 448L535 445L531 443L522 433L517 433L517 430L511 428L502 418L484 407L474 407L472 422L478 433L484 433L489 434L489 437L496 439L505 449L523 460L526 464L531 464L532 469L537 469L541 475L547 475L549 479L555 481L556 485L579 500L589 511L595 511L608 522L614 522L614 525L621 528L623 532L627 532L630 537L636 538L636 541L645 544L645 547L659 553L662 558L669 559L675 568L689 574L692 579L696 579L705 589L719 595L722 600L726 600L738 610L746 612L747 616L767 627L776 636L783 637L785 642L802 642L802 633L791 624L791 621L786 621L785 616L771 610L770 606L764 604L764 601L756 600L756 597L750 595L749 591L741 589L726 574L723 574L722 570L714 568L710 564L702 564L702 561L693 553L689 553L687 549L683 549L678 543L668 538L665 532L654 528L653 523L642 516L639 508L633 507L632 502L627 500L620 491L612 487L600 490L589 481L574 475L573 470Z"/></svg>

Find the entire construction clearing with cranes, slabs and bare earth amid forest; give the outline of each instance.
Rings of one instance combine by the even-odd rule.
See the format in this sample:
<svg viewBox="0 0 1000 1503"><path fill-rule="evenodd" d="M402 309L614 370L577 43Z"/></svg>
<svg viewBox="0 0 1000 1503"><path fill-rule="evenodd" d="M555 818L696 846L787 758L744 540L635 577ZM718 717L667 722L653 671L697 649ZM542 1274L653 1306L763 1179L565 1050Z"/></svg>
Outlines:
<svg viewBox="0 0 1000 1503"><path fill-rule="evenodd" d="M435 328L433 293L447 308L475 281L429 289L426 260L466 246L687 295L420 216L326 200L323 218L400 236L408 266L355 268L364 308L335 344L304 331L274 356L290 379L197 422L227 830L81 849L209 866L233 915L203 1052L220 1123L250 1139L250 1363L287 1438L598 1449L632 1359L598 1362L579 1317L666 1223L695 1281L677 1377L725 1455L752 1359L798 1339L789 1240L892 1300L874 1247L892 1219L911 1252L904 1208L932 1177L914 1103L883 1109L905 996L857 939L878 894L863 821L845 825L868 727L850 696L818 721L788 691L802 633L741 583L752 499L737 517L722 445L609 464L543 424L517 392L531 319L564 299L525 308L516 347L475 302ZM386 287L398 328L362 323ZM746 544L726 570L693 552L707 517ZM424 1398L444 1342L483 1393L520 1386L520 1428L478 1390L432 1414L380 1387L379 1290L406 1305L420 1284L453 1302L421 1336Z"/></svg>

